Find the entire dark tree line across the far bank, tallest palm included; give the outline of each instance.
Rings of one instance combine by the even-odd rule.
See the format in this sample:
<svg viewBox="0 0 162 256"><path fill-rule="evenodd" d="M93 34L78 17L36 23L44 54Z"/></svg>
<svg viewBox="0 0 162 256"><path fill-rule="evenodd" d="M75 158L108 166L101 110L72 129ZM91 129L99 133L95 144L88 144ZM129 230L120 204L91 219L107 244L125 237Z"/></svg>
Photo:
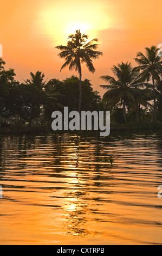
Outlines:
<svg viewBox="0 0 162 256"><path fill-rule="evenodd" d="M113 75L101 76L108 84L102 99L93 90L88 79L82 81L81 64L86 63L95 72L92 59L102 56L96 51L98 39L87 41L88 36L76 31L68 37L66 46L57 46L59 57L66 62L61 70L79 72L79 78L71 76L63 81L45 80L42 72L30 73L23 83L15 80L13 69L5 70L0 59L0 123L5 125L51 124L51 113L63 111L111 111L114 123L136 121L162 121L162 62L155 46L146 47L135 58L137 66L121 62L112 68Z"/></svg>

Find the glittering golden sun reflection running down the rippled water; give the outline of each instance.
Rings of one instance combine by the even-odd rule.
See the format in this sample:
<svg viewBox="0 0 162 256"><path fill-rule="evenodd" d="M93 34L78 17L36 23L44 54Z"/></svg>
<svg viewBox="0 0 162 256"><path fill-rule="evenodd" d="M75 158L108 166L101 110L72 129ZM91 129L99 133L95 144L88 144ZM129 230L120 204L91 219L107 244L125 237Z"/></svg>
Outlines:
<svg viewBox="0 0 162 256"><path fill-rule="evenodd" d="M82 157L82 144L79 143L79 138L76 138L76 147L73 145L73 147L66 148L67 154L69 155L69 159L67 163L64 163L65 166L68 167L73 166L74 159L77 158L76 162L76 171L75 172L68 172L68 179L67 182L69 184L73 185L74 189L70 189L66 192L64 192L63 196L65 198L63 202L63 209L68 212L68 214L63 214L63 220L65 218L64 222L64 228L67 230L67 234L73 235L73 236L79 236L83 235L86 236L89 233L91 235L96 235L98 231L89 231L88 223L92 221L92 214L91 211L96 211L96 208L89 209L88 204L88 193L86 191L83 191L83 187L87 186L88 181L85 180L82 175L82 161L85 161L85 157L87 157L87 152L85 150L85 157ZM83 148L84 145L83 145ZM80 154L81 153L81 154ZM73 155L73 158L71 156ZM73 161L73 164L70 164L70 162ZM89 167L88 167L89 168ZM86 185L85 185L86 183Z"/></svg>

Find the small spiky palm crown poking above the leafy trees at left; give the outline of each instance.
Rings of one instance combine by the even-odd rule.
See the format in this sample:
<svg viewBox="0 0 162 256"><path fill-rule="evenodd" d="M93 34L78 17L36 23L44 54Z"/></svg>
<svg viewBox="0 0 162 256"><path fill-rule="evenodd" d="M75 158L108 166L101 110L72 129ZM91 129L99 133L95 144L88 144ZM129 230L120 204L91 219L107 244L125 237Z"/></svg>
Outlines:
<svg viewBox="0 0 162 256"><path fill-rule="evenodd" d="M38 89L44 88L46 81L43 81L44 74L42 74L42 72L37 71L35 75L32 72L30 72L30 76L31 76L31 80L28 79L27 81L25 81L25 83L27 83L29 86L33 85Z"/></svg>

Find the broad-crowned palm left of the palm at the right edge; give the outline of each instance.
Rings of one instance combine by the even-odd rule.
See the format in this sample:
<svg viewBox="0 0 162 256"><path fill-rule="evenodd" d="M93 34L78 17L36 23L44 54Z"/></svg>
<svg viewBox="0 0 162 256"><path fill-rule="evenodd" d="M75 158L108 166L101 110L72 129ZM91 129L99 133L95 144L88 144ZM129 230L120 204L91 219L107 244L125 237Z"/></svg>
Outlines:
<svg viewBox="0 0 162 256"><path fill-rule="evenodd" d="M131 63L121 63L112 68L113 76L101 76L100 78L109 85L101 86L107 89L107 92L103 95L103 101L109 102L110 107L116 105L122 106L123 117L125 123L126 120L126 107L132 108L132 102L134 105L141 103L137 99L134 99L134 93L138 94L141 88L147 86L144 77L139 77L139 68L132 68ZM138 119L138 118L137 118Z"/></svg>

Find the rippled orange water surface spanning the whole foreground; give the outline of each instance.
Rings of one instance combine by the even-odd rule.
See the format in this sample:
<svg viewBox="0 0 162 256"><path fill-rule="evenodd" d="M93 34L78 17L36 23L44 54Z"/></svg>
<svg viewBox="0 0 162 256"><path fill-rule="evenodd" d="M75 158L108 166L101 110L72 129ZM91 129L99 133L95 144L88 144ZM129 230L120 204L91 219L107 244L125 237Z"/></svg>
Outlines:
<svg viewBox="0 0 162 256"><path fill-rule="evenodd" d="M162 245L160 133L0 136L0 185L1 245Z"/></svg>

